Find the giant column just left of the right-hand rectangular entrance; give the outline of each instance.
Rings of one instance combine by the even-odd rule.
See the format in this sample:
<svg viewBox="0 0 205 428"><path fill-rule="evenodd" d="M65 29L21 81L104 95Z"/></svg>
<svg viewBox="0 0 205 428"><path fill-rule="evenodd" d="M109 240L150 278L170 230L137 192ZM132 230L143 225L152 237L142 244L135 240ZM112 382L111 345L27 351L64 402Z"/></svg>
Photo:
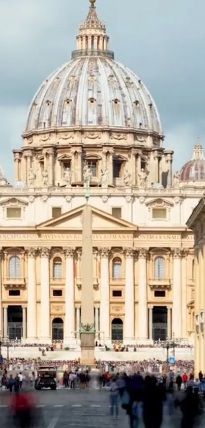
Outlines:
<svg viewBox="0 0 205 428"><path fill-rule="evenodd" d="M147 307L147 250L139 249L139 284L138 284L138 337L148 338Z"/></svg>

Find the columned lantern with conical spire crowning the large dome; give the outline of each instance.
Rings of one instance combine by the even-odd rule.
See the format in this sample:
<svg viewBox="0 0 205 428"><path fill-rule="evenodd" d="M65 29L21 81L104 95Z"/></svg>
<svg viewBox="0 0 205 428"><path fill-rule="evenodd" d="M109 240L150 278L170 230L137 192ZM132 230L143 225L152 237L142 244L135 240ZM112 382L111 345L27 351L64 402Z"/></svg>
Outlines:
<svg viewBox="0 0 205 428"><path fill-rule="evenodd" d="M91 3L86 19L81 22L76 37L76 51L72 52L72 59L83 56L105 56L114 59L114 53L108 51L109 37L106 34L104 22L98 18L95 2Z"/></svg>

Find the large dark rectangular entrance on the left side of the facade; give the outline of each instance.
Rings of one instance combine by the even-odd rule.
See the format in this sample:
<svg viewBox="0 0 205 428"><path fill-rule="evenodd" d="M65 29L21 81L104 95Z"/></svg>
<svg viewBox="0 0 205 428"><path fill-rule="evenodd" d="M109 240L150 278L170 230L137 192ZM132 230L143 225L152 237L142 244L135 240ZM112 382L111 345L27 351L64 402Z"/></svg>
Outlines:
<svg viewBox="0 0 205 428"><path fill-rule="evenodd" d="M10 340L20 340L23 336L22 306L8 306L8 336Z"/></svg>

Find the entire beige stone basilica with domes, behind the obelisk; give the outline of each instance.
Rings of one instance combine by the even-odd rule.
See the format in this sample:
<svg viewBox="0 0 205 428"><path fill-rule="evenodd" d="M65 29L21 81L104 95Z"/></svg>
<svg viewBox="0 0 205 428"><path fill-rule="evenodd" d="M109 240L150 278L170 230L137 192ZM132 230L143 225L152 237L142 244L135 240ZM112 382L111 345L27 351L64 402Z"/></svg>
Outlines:
<svg viewBox="0 0 205 428"><path fill-rule="evenodd" d="M15 183L0 177L0 331L79 341L82 208L90 177L96 339L192 340L194 237L203 148L172 172L172 150L141 79L114 60L90 0L71 60L28 109Z"/></svg>

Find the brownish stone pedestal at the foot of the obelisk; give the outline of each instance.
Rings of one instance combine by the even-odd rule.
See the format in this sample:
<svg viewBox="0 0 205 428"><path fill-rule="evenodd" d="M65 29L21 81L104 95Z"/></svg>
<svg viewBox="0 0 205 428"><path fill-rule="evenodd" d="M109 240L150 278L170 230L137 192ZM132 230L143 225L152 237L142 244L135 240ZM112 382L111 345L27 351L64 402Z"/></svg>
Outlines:
<svg viewBox="0 0 205 428"><path fill-rule="evenodd" d="M81 364L95 364L95 333L80 333Z"/></svg>

